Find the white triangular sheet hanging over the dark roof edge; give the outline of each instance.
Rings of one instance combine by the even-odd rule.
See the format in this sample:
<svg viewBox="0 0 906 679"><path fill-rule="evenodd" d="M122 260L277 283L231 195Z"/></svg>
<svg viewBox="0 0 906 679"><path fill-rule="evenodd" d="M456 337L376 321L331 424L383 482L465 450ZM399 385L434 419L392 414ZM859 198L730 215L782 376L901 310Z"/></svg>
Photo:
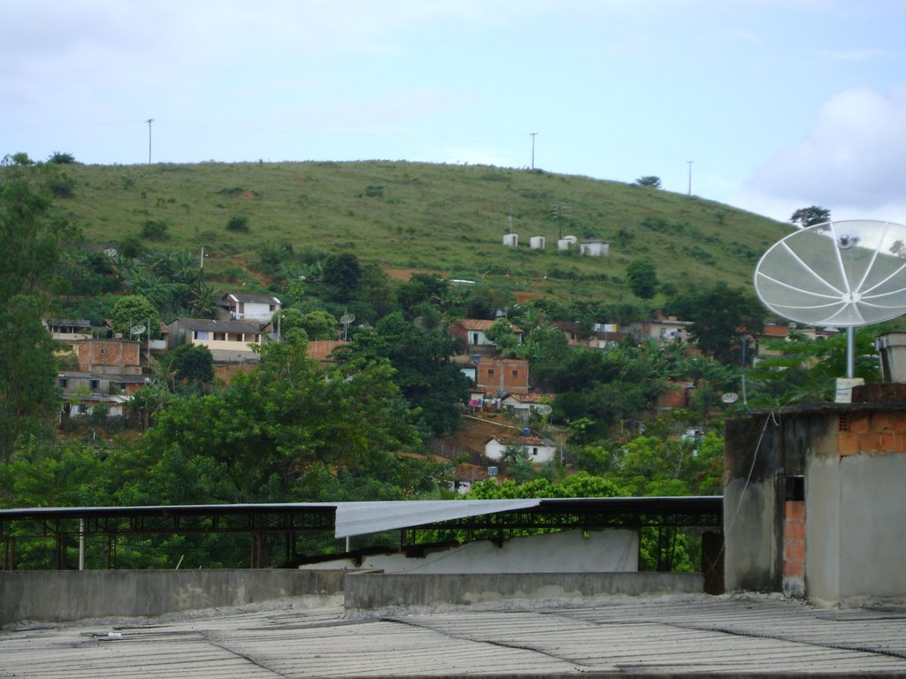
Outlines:
<svg viewBox="0 0 906 679"><path fill-rule="evenodd" d="M337 504L335 534L337 538L368 535L436 521L529 509L540 503L540 499L340 502Z"/></svg>

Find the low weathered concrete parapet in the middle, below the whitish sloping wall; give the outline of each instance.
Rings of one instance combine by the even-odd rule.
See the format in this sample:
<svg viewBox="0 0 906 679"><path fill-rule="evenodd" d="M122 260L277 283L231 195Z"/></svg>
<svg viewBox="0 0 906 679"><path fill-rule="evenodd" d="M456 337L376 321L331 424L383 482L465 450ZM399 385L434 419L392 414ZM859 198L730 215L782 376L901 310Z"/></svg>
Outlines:
<svg viewBox="0 0 906 679"><path fill-rule="evenodd" d="M605 595L700 593L699 573L351 573L345 580L347 609L505 600L577 601Z"/></svg>

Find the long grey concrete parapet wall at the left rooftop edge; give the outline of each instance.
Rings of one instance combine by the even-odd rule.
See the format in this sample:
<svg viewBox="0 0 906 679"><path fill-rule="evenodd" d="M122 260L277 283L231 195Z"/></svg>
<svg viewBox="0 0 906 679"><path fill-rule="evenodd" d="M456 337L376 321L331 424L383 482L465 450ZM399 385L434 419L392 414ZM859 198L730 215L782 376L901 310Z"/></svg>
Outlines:
<svg viewBox="0 0 906 679"><path fill-rule="evenodd" d="M340 591L339 571L0 570L0 624L158 616Z"/></svg>

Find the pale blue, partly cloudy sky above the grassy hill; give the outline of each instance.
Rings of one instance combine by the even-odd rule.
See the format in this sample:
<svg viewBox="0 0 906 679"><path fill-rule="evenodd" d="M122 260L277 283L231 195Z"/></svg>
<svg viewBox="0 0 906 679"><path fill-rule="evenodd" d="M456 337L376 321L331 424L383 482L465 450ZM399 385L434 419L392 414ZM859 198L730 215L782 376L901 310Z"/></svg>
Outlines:
<svg viewBox="0 0 906 679"><path fill-rule="evenodd" d="M656 176L906 224L906 2L6 3L0 158L55 151Z"/></svg>

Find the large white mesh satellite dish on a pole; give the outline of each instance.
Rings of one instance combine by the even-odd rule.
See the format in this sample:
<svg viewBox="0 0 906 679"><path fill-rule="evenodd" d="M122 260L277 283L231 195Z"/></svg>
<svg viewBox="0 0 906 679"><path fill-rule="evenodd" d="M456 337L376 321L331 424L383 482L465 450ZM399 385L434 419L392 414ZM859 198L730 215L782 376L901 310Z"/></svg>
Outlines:
<svg viewBox="0 0 906 679"><path fill-rule="evenodd" d="M758 262L755 289L789 320L853 329L906 312L906 226L868 219L825 222L787 235Z"/></svg>

